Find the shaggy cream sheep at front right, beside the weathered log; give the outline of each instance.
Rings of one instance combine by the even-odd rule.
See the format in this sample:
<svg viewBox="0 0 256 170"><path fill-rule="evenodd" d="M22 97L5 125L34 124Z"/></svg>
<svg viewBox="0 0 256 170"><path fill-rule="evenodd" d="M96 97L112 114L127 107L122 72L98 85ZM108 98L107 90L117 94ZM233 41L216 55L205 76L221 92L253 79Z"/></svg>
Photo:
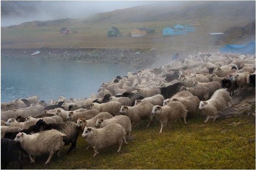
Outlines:
<svg viewBox="0 0 256 170"><path fill-rule="evenodd" d="M231 102L234 107L232 99L225 89L219 89L214 92L209 100L204 102L201 101L199 109L203 112L203 114L207 115L204 122L206 123L210 116L213 116L213 121L215 121L218 111L228 107L228 102Z"/></svg>

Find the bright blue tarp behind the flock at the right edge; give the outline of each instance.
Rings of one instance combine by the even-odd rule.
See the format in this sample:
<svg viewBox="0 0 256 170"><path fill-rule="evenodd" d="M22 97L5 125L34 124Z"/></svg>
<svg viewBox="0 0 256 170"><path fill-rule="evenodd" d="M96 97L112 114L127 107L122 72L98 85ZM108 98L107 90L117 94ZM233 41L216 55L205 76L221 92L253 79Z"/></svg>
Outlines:
<svg viewBox="0 0 256 170"><path fill-rule="evenodd" d="M232 54L255 54L255 41L251 41L247 45L225 45L219 51Z"/></svg>

